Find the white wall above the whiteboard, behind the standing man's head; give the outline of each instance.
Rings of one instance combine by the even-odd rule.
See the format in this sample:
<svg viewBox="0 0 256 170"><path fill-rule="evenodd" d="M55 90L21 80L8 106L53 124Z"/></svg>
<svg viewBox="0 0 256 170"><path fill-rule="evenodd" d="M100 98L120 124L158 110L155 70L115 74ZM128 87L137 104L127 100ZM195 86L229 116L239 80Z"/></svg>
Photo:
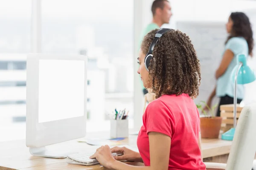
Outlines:
<svg viewBox="0 0 256 170"><path fill-rule="evenodd" d="M151 4L154 0L143 1L143 27L151 22ZM163 27L176 28L180 20L227 21L232 11L256 10L255 0L169 0L172 6L172 18Z"/></svg>

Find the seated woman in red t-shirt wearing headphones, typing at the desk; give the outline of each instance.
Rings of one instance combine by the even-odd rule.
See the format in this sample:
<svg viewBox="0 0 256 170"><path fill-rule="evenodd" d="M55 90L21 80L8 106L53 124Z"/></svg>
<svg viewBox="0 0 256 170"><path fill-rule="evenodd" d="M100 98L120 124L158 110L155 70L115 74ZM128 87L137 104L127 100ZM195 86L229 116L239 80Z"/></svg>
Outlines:
<svg viewBox="0 0 256 170"><path fill-rule="evenodd" d="M189 37L167 28L149 32L138 63L144 87L156 94L143 114L139 153L105 145L90 158L114 170L205 170L199 112L193 102L201 81L200 64ZM113 157L111 152L123 155ZM141 161L145 166L117 160Z"/></svg>

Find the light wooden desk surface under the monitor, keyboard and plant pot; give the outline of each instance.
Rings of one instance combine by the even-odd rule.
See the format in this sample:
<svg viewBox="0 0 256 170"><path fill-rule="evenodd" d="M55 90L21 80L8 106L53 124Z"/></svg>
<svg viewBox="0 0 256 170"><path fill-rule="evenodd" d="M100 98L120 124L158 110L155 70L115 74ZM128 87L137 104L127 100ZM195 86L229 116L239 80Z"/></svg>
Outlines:
<svg viewBox="0 0 256 170"><path fill-rule="evenodd" d="M108 139L109 133L93 133L88 134L89 137L99 137ZM137 148L137 135L130 135L123 144L128 144L131 147ZM223 141L220 139L202 139L202 154L203 158L220 156L230 153L231 141ZM68 147L67 147L68 146ZM77 140L63 142L58 144L58 147L74 150L74 151L90 151L95 150L99 146L91 146L84 142L77 142ZM135 162L129 164L141 165ZM94 165L90 167L67 164L67 159L52 159L32 156L29 153L29 148L26 147L25 140L0 142L0 170L91 170L91 169L105 169L101 165Z"/></svg>

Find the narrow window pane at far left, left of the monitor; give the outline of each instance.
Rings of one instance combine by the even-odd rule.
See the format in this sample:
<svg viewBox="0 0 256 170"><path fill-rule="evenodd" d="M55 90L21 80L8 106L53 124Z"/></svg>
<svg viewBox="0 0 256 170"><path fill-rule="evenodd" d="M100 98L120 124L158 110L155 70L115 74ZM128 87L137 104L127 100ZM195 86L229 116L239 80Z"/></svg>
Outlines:
<svg viewBox="0 0 256 170"><path fill-rule="evenodd" d="M0 2L0 141L26 136L30 14L31 0Z"/></svg>

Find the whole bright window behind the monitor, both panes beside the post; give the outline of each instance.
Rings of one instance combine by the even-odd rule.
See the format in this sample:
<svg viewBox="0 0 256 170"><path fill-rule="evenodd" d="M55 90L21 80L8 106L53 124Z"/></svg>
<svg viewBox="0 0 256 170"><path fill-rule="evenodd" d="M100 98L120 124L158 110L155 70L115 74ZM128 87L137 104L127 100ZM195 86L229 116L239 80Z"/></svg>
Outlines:
<svg viewBox="0 0 256 170"><path fill-rule="evenodd" d="M133 2L41 1L41 52L88 56L87 131L108 130L115 108L130 110L133 127ZM26 136L31 3L0 3L0 141Z"/></svg>

